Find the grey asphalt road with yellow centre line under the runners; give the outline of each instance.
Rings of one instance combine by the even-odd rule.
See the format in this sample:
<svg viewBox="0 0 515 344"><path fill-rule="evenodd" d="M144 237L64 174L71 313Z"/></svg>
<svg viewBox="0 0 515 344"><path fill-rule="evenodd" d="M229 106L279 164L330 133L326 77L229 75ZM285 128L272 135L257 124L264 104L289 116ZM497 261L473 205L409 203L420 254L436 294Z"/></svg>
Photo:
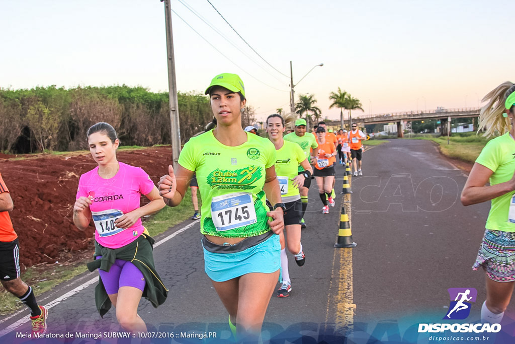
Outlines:
<svg viewBox="0 0 515 344"><path fill-rule="evenodd" d="M306 263L297 267L291 257L293 290L288 298L272 296L264 339L275 337L280 338L276 342L287 342L302 334L313 338L311 342L342 342L340 335L347 330L359 336L379 331L376 337L384 331L392 336L400 331L402 336L417 322L441 322L449 307L447 289L453 287L477 289L470 320L479 318L485 299L484 273L472 271L471 266L489 204L461 205L459 194L466 175L443 159L431 142L391 140L367 150L363 158L364 176L352 178L353 194L348 203L357 246L333 247L344 204L340 194L344 169L338 165L337 202L330 214L321 214L318 189L312 184L305 216L308 227L302 232ZM204 273L198 221L184 230L192 222L156 238L159 241L175 233L154 250L156 267L169 289L168 299L157 309L142 300L139 314L152 332L213 331L217 340L224 341L230 337L228 315ZM52 305L49 332L119 331L113 309L104 319L97 314L94 283L66 294L96 275L84 273L40 298L41 303ZM54 301L63 294L64 300ZM515 311L514 301L508 309ZM26 319L27 314L24 310L0 319L0 334L5 335L2 342L8 338L23 342L14 338L16 333L29 333L29 323L15 329L13 324ZM509 312L507 317L515 318ZM385 324L393 326L394 330L388 327L393 332L381 332Z"/></svg>

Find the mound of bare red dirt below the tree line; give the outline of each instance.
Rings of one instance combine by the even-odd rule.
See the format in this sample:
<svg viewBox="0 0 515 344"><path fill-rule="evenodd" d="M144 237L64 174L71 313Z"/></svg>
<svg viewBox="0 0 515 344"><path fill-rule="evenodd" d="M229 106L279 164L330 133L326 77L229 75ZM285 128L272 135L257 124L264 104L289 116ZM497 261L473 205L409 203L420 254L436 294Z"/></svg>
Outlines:
<svg viewBox="0 0 515 344"><path fill-rule="evenodd" d="M169 147L118 151L116 156L118 161L141 167L156 184L171 163ZM93 225L79 231L72 218L79 176L96 167L91 155L9 158L0 157L0 173L14 202L10 216L20 240L22 267L55 263L73 251L93 251Z"/></svg>

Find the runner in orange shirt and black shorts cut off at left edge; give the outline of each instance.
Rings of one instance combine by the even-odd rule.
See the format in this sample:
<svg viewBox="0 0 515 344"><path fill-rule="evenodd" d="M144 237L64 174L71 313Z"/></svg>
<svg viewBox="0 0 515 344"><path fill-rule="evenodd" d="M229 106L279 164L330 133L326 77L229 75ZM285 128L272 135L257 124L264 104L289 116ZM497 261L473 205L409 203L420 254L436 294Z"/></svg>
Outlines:
<svg viewBox="0 0 515 344"><path fill-rule="evenodd" d="M0 281L4 288L30 308L32 336L46 332L47 310L39 306L34 291L20 278L20 248L9 211L14 208L9 189L0 174Z"/></svg>

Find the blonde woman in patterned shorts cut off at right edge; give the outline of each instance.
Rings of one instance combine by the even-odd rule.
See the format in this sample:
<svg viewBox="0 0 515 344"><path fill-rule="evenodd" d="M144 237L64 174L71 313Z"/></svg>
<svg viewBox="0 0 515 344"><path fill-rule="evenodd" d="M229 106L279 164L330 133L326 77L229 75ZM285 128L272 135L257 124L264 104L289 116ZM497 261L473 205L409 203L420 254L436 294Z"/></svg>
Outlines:
<svg viewBox="0 0 515 344"><path fill-rule="evenodd" d="M515 84L506 81L483 101L487 104L479 113L479 130L484 128L485 136L501 136L489 141L477 157L461 192L461 203L492 202L472 269L483 267L486 272L487 296L481 319L493 324L501 322L515 285Z"/></svg>

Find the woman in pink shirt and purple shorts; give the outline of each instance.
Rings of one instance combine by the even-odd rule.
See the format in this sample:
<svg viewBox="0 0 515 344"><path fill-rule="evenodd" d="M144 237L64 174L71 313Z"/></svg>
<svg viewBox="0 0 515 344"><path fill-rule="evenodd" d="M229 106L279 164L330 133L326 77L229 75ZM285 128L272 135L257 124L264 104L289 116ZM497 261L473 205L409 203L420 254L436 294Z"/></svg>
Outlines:
<svg viewBox="0 0 515 344"><path fill-rule="evenodd" d="M96 259L108 254L116 257L107 271L98 271L101 284L116 307L119 324L132 333L146 332L145 322L137 312L145 285L151 281L145 280L145 274L131 261L117 258L122 256L118 253L127 253L124 248L132 247L136 240L141 241L138 241L139 250L151 252L153 240L150 243L142 240L149 235L141 217L160 210L165 204L145 171L118 162L116 149L119 140L110 124L100 122L93 125L88 129L87 137L91 156L98 166L80 176L73 221L80 230L86 230L93 220ZM140 207L142 194L150 202ZM97 252L102 252L102 255ZM147 254L139 260L142 259L148 259L153 265L151 253L150 257Z"/></svg>

